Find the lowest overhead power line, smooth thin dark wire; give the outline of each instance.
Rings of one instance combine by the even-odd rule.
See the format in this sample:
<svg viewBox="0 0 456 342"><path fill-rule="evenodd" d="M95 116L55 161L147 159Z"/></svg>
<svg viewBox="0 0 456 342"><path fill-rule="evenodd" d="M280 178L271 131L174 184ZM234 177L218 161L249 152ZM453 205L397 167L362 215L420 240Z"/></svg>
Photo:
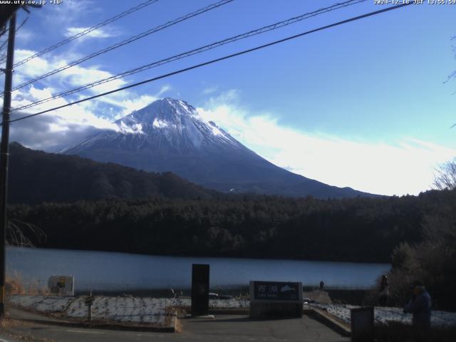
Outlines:
<svg viewBox="0 0 456 342"><path fill-rule="evenodd" d="M71 102L71 103L67 103L66 105L59 105L58 107L54 107L54 108L51 108L51 109L48 109L48 110L42 110L41 112L38 112L38 113L34 113L34 114L23 116L22 118L9 120L9 123L14 123L16 121L24 120L24 119L27 119L27 118L32 118L34 116L41 115L41 114L44 114L44 113L48 113L48 112L51 112L53 110L66 108L66 107L69 107L70 105L76 105L78 103L83 103L83 102L86 102L88 100L93 100L94 98L100 98L101 96L110 95L112 93L117 93L118 91L121 91L121 90L126 90L126 89L133 88L133 87L136 87L136 86L141 86L142 84L145 84L145 83L150 83L150 82L153 82L153 81L157 81L157 80L160 80L162 78L166 78L166 77L169 77L169 76L177 75L179 73L184 73L185 71L190 71L190 70L193 70L193 69L196 69L196 68L201 68L202 66L208 66L209 64L212 64L212 63L217 63L219 61L224 61L224 60L229 59L229 58L233 58L233 57L236 57L236 56L241 56L241 55L244 55L246 53L250 53L250 52L253 52L253 51L261 50L262 48L266 48L266 47L269 47L269 46L274 46L274 45L279 44L279 43L284 43L285 41L290 41L291 39L299 38L301 36L306 36L307 34L310 34L310 33L314 33L314 32L317 32L317 31L323 31L326 28L331 28L331 27L334 27L334 26L347 24L347 23L349 23L351 21L356 21L356 20L360 20L360 19L363 19L363 18L367 18L368 16L375 16L377 14L381 14L381 13L386 12L386 11L392 11L394 9L399 9L401 7L408 6L408 5L411 5L411 4L413 4L412 1L410 1L409 3L403 3L403 4L400 4L400 5L396 5L396 6L390 6L390 7L387 7L385 9L380 9L378 11L373 11L373 12L370 12L370 13L367 13L367 14L362 14L361 16L355 16L355 17L352 17L350 19L346 19L346 20L343 20L343 21L338 21L336 23L329 24L329 25L326 25L326 26L321 26L319 28L314 28L313 30L305 31L305 32L299 33L299 34L295 34L294 36L289 36L289 37L286 37L286 38L282 38L282 39L279 39L277 41L272 41L271 43L266 43L264 45L256 46L254 48L249 48L247 50L240 51L240 52L237 52L237 53L232 53L230 55L223 56L223 57L220 57L220 58L215 58L215 59L212 59L211 61L207 61L207 62L204 62L204 63L199 63L199 64L196 64L194 66L189 66L188 68L183 68L183 69L180 69L180 70L177 70L177 71L173 71L171 73L166 73L166 74L161 75L161 76L157 76L157 77L154 77L154 78L149 78L149 79L147 79L145 81L140 81L140 82L137 82L137 83L130 84L128 86L124 86L124 87L121 87L121 88L117 88L117 89L114 89L114 90L107 91L105 93L101 93L101 94L98 94L98 95L93 95L93 96L90 96L88 98L83 98L81 100L77 100L77 101L74 101L74 102Z"/></svg>

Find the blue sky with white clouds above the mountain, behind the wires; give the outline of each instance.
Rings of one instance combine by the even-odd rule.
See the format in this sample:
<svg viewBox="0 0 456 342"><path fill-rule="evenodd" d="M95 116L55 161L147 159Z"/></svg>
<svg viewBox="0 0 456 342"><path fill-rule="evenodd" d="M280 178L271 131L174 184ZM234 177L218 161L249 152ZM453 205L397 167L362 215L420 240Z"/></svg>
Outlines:
<svg viewBox="0 0 456 342"><path fill-rule="evenodd" d="M18 32L16 61L141 1L70 1L33 9ZM15 83L216 1L160 0L141 11L19 66ZM14 93L14 105L157 61L336 1L235 0L93 58ZM243 48L368 11L373 0L306 19L118 80L73 98L159 76ZM271 162L331 185L387 195L430 188L435 167L456 156L456 5L412 5L329 28L246 56L133 90L24 120L13 139L58 150L86 128L162 96L182 98ZM26 13L19 14L19 23ZM46 118L44 118L46 116ZM40 122L41 120L41 122ZM26 123L28 121L28 123ZM40 131L37 130L37 125ZM78 133L78 134L76 134Z"/></svg>

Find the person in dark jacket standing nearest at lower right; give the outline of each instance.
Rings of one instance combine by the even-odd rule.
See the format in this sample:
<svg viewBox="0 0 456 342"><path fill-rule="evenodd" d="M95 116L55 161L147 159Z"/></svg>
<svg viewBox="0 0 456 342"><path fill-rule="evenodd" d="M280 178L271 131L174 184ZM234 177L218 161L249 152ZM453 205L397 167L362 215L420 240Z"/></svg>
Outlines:
<svg viewBox="0 0 456 342"><path fill-rule="evenodd" d="M415 281L413 297L404 308L404 313L412 314L412 325L417 331L430 330L431 300L422 281Z"/></svg>

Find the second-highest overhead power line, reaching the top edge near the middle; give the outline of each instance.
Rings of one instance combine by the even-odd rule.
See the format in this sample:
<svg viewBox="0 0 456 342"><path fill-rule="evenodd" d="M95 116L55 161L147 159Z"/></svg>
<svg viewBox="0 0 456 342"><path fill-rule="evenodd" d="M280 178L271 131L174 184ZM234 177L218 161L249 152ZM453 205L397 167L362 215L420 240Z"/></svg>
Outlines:
<svg viewBox="0 0 456 342"><path fill-rule="evenodd" d="M103 48L100 51L91 53L90 55L85 56L83 58L79 58L76 61L73 61L71 63L66 64L66 66L61 66L60 68L56 68L53 71L49 71L48 73L43 73L43 75L41 75L41 76L33 78L30 81L26 81L24 83L21 83L19 86L14 87L13 90L18 90L20 88L24 88L25 86L28 86L31 83L35 83L36 81L42 80L43 78L46 78L46 77L51 76L51 75L54 75L56 73L60 73L61 71L64 71L64 70L66 70L68 68L71 68L72 66L77 66L78 64L81 64L81 63L83 63L85 61L88 61L91 58L94 58L96 56L100 56L103 53L107 53L108 51L114 50L115 48L120 48L120 46L124 46L126 44L133 43L133 41L137 41L138 39L144 38L145 36L149 36L152 33L156 33L158 31L164 30L165 28L173 26L175 24L178 24L181 21L185 21L185 20L190 19L190 18L192 18L194 16L199 16L199 14L203 14L203 13L205 13L207 11L211 11L212 9L217 9L218 7L223 6L225 4L228 4L228 3L232 2L232 1L234 1L234 0L218 1L217 3L210 4L209 6L206 6L206 7L202 8L202 9L198 9L197 11L194 11L192 13L185 14L185 16L181 16L180 18L174 19L172 21L168 21L166 24L162 24L162 25L157 26L155 28L151 28L150 30L144 31L142 33L139 33L136 36L130 37L128 39L125 39L124 41L120 41L119 43L115 43L112 46L108 46L107 48Z"/></svg>

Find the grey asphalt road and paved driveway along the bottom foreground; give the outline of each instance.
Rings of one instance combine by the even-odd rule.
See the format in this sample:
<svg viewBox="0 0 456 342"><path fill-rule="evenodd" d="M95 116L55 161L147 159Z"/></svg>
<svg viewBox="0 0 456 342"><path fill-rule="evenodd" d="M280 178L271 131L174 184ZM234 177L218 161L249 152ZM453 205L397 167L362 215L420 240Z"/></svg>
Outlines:
<svg viewBox="0 0 456 342"><path fill-rule="evenodd" d="M179 333L149 333L70 328L37 323L10 322L6 328L31 341L108 342L108 341L350 341L308 316L282 320L251 320L247 316L219 315L211 318L180 320ZM16 342L14 335L0 332L0 342ZM24 341L21 339L20 341Z"/></svg>

